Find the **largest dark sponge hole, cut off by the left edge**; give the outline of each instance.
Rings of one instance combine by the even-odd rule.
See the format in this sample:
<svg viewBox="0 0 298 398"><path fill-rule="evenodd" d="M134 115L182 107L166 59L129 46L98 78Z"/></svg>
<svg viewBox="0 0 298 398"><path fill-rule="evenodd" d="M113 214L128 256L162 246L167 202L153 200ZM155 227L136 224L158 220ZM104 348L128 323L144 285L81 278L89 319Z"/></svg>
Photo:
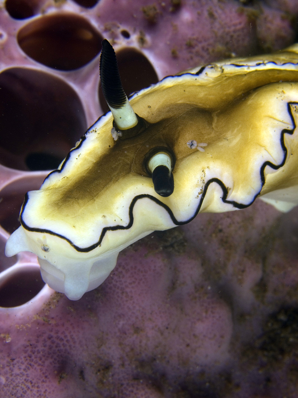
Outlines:
<svg viewBox="0 0 298 398"><path fill-rule="evenodd" d="M0 163L19 170L57 168L87 127L68 84L26 68L0 73L0 115Z"/></svg>

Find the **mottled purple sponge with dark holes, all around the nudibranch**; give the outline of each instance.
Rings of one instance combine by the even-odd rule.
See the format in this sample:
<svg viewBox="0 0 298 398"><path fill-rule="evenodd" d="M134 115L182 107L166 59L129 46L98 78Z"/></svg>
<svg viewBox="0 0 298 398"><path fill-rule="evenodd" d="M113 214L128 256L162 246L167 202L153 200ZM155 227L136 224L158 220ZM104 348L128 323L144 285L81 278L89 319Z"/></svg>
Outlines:
<svg viewBox="0 0 298 398"><path fill-rule="evenodd" d="M124 250L78 301L35 256L5 258L38 189L107 107L101 40L126 92L297 41L298 0L0 2L0 398L298 397L298 209L256 200Z"/></svg>

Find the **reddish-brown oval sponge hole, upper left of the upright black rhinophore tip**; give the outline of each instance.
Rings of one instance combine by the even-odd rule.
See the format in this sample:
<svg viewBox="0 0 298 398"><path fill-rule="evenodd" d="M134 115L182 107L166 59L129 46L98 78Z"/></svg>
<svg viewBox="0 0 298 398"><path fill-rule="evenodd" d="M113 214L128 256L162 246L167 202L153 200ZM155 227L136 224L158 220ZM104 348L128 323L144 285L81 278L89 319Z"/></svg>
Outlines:
<svg viewBox="0 0 298 398"><path fill-rule="evenodd" d="M19 46L29 57L61 71L86 65L100 52L101 41L89 21L74 14L41 16L17 34Z"/></svg>

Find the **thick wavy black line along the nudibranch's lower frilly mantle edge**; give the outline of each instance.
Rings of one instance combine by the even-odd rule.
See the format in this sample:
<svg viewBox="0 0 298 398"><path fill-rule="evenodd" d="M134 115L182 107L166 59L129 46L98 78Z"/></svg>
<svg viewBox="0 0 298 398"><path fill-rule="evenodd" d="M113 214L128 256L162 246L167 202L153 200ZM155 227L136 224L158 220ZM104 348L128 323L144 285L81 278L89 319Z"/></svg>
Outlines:
<svg viewBox="0 0 298 398"><path fill-rule="evenodd" d="M221 180L219 180L218 178L212 178L212 179L210 179L210 180L207 181L207 183L205 184L205 187L204 187L203 194L202 194L202 196L201 196L200 202L199 202L199 204L198 204L198 207L197 207L197 209L196 209L194 215L193 215L192 217L190 217L189 219L187 219L186 221L178 221L178 220L175 218L175 216L174 216L172 210L171 210L166 204L162 203L159 199L157 199L157 198L155 198L155 197L153 197L153 196L151 196L151 195L148 195L148 194L138 195L138 196L136 196L136 197L132 200L132 202L131 202L131 204L130 204L130 206L129 206L129 223L128 223L128 225L126 225L126 226L124 226L124 225L115 225L115 226L111 226L111 227L104 227L104 228L102 229L102 231L101 231L101 234L100 234L100 237L99 237L99 240L98 240L97 243L94 243L93 245L91 245L91 246L89 246L89 247L81 248L81 247L79 247L79 246L74 245L74 243L73 243L70 239L68 239L68 238L66 238L65 236L60 235L60 234L58 234L58 233L56 233L56 232L53 232L53 231L48 230L48 229L31 228L31 227L29 227L28 225L26 225L26 223L25 223L24 220L23 220L23 211L24 211L25 206L26 206L26 204L27 204L27 202L28 202L28 194L26 194L26 195L25 195L24 203L23 203L23 205L22 205L21 214L20 214L21 225L22 225L25 229L27 229L28 231L31 231L31 232L48 233L49 235L54 235L54 236L57 236L57 237L59 237L59 238L62 238L62 239L64 239L64 240L66 240L77 252L80 252L80 253L87 253L87 252L90 252L90 251L96 249L96 247L98 247L98 246L101 245L101 242L102 242L102 240L103 240L103 238L104 238L104 236L105 236L105 234L106 234L107 231L115 231L115 230L120 230L120 229L129 229L129 228L131 228L131 226L132 226L133 223L134 223L134 214L133 214L134 206L135 206L137 200L139 200L139 199L148 198L148 199L152 200L153 202L155 202L156 204L158 204L159 206L163 207L163 208L168 212L168 214L169 214L169 216L170 216L172 222L173 222L175 225L184 225L184 224L187 224L188 222L192 221L192 220L197 216L197 214L199 213L200 208L201 208L201 206L202 206L203 200L205 199L205 196L206 196L206 194L207 194L208 187L209 187L212 183L217 183L217 184L222 188L222 191L223 191L222 201L223 201L224 203L231 204L233 207L239 208L239 209L249 207L249 206L255 201L255 199L260 195L260 193L261 193L261 191L262 191L262 188L264 187L264 184L265 184L265 167L266 167L266 166L270 166L272 169L278 170L278 169L280 169L281 167L283 167L284 164L285 164L285 162L286 162L287 155L288 155L288 150L287 150L287 148L286 148L286 146L285 146L284 135L285 135L285 134L293 135L293 133L294 133L294 131L295 131L295 129L296 129L296 123L295 123L295 120L294 120L294 117L293 117L293 114L292 114L290 105L298 105L298 102L288 102L288 104L287 104L287 106L288 106L288 112L289 112L289 115L290 115L290 117L291 117L291 120L292 120L292 123L293 123L294 128L293 128L292 130L283 129L283 130L281 131L280 143L281 143L281 147L282 147L282 149L283 149L283 151L284 151L284 159L283 159L282 163L279 164L279 165L274 165L273 163L271 163L271 162L269 162L269 161L266 161L266 162L263 163L263 165L262 165L261 168L260 168L260 179L261 179L262 187L261 187L260 191L254 196L254 198L252 199L252 201L251 201L250 203L248 203L248 204L238 203L238 202L236 202L236 201L234 201L234 200L227 200L226 198L227 198L227 195L228 195L228 190L227 190L227 188L225 187L224 183L223 183ZM78 145L78 147L79 147L79 145ZM77 147L77 148L78 148L78 147ZM68 155L67 159L69 158L69 156L70 156L70 154ZM63 166L65 165L67 159L64 161ZM61 169L61 170L62 170L62 169ZM59 171L60 171L60 170L58 170L58 172L59 172ZM54 171L54 172L57 172L57 171ZM52 173L53 173L53 172L52 172ZM50 174L51 174L51 173L50 173Z"/></svg>

